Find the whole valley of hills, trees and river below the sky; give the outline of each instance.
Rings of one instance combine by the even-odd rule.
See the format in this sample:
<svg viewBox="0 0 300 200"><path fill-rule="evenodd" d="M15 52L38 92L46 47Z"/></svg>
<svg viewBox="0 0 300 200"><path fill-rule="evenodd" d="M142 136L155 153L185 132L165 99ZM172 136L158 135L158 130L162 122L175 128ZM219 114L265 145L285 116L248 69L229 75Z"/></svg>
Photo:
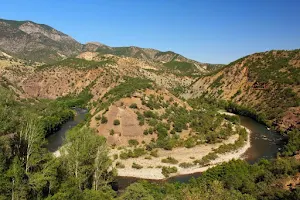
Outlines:
<svg viewBox="0 0 300 200"><path fill-rule="evenodd" d="M68 199L72 190L78 199L83 191L113 199L118 177L195 173L203 175L161 187L180 187L180 197L198 190L196 181L235 197L257 197L260 187L293 194L277 186L300 169L299 50L221 65L80 44L31 21L0 20L0 31L0 199ZM142 181L125 190L148 186L160 187Z"/></svg>

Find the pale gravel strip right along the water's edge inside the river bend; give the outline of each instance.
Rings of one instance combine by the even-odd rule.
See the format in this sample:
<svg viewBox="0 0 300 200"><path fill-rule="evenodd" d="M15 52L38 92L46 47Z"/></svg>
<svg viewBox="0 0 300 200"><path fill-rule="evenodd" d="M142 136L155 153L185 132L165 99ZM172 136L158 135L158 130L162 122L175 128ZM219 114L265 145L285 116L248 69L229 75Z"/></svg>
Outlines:
<svg viewBox="0 0 300 200"><path fill-rule="evenodd" d="M210 162L209 166L205 166L205 167L193 166L190 168L182 168L182 167L179 167L178 164L172 165L172 164L159 163L161 166L176 166L178 169L178 172L170 174L169 177L165 177L161 173L162 172L161 168L132 169L131 167L126 167L123 169L122 168L117 169L118 177L128 177L128 178L131 177L131 178L139 178L139 179L147 179L147 180L167 180L171 177L201 173L201 172L208 170L209 168L215 167L216 165L221 164L223 162L228 162L232 159L245 159L245 157L243 157L243 156L244 156L245 152L251 147L251 141L250 141L251 131L244 126L242 126L242 127L245 128L248 133L248 138L247 138L246 144L243 147L241 147L235 151L228 152L225 154L218 154L219 157L215 160L212 160ZM209 146L209 145L203 145L202 148L207 147L207 146ZM180 151L180 148L172 150L172 153L174 154L174 156L176 155L176 151L178 151L178 150ZM194 155L203 153L201 151L201 147L191 148L191 150L193 150ZM202 155L202 156L204 156L204 155ZM159 157L159 159L161 159L161 158L163 158L163 157ZM142 160L143 158L138 158L138 159ZM132 160L136 161L137 159L132 159ZM121 161L126 162L124 160L121 160ZM129 161L127 160L127 162L129 162ZM155 161L152 161L152 162L155 162Z"/></svg>

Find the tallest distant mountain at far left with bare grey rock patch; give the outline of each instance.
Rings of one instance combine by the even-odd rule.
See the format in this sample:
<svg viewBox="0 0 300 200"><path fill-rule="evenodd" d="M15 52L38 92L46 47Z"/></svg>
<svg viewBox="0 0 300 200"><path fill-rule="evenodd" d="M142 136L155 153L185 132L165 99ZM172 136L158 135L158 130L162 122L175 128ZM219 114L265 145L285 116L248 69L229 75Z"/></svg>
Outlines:
<svg viewBox="0 0 300 200"><path fill-rule="evenodd" d="M82 45L44 24L0 19L0 48L22 59L53 62L79 53Z"/></svg>

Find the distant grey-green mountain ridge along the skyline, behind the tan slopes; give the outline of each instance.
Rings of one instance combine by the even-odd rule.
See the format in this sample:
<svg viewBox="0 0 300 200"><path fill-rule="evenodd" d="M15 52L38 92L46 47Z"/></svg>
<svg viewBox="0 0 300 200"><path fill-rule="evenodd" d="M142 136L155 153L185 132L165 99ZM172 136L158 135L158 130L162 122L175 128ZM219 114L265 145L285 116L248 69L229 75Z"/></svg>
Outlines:
<svg viewBox="0 0 300 200"><path fill-rule="evenodd" d="M140 47L109 47L99 42L81 44L72 37L44 24L32 21L0 19L0 50L41 63L54 63L82 52L98 52L163 63L167 68L189 73L203 73L221 65L200 63L177 53Z"/></svg>

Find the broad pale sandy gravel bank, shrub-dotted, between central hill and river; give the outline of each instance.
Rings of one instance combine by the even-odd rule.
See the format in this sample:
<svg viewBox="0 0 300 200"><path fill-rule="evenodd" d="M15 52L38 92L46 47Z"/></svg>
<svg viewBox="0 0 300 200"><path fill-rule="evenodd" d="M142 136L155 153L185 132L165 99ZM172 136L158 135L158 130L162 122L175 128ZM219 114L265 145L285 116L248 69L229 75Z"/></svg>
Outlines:
<svg viewBox="0 0 300 200"><path fill-rule="evenodd" d="M237 139L238 135L231 136L228 140L223 141L222 143L217 144L203 144L198 145L193 148L175 148L172 151L167 151L163 149L158 150L158 157L151 157L151 159L146 158L145 156L139 158L129 158L127 160L116 159L114 161L114 165L117 162L122 163L124 168L118 168L118 176L120 177L135 177L141 179L152 179L152 180L162 180L166 179L166 177L162 174L162 167L176 167L177 172L172 173L169 177L179 176L179 175L187 175L187 174L194 174L199 172L204 172L207 169L214 167L218 164L223 162L228 162L232 159L243 159L243 154L247 151L248 148L251 146L250 142L250 134L251 131L246 129L248 132L248 139L246 144L235 151L228 152L225 154L218 154L218 158L212 160L208 166L199 166L194 165L189 168L180 167L180 163L193 163L193 161L198 160L213 152L214 149L217 149L222 144L233 144ZM116 149L112 149L110 154L118 154L119 151ZM177 164L169 164L169 163L162 163L161 160L167 157L172 157L178 161ZM137 163L143 168L135 169L132 168L132 164Z"/></svg>

